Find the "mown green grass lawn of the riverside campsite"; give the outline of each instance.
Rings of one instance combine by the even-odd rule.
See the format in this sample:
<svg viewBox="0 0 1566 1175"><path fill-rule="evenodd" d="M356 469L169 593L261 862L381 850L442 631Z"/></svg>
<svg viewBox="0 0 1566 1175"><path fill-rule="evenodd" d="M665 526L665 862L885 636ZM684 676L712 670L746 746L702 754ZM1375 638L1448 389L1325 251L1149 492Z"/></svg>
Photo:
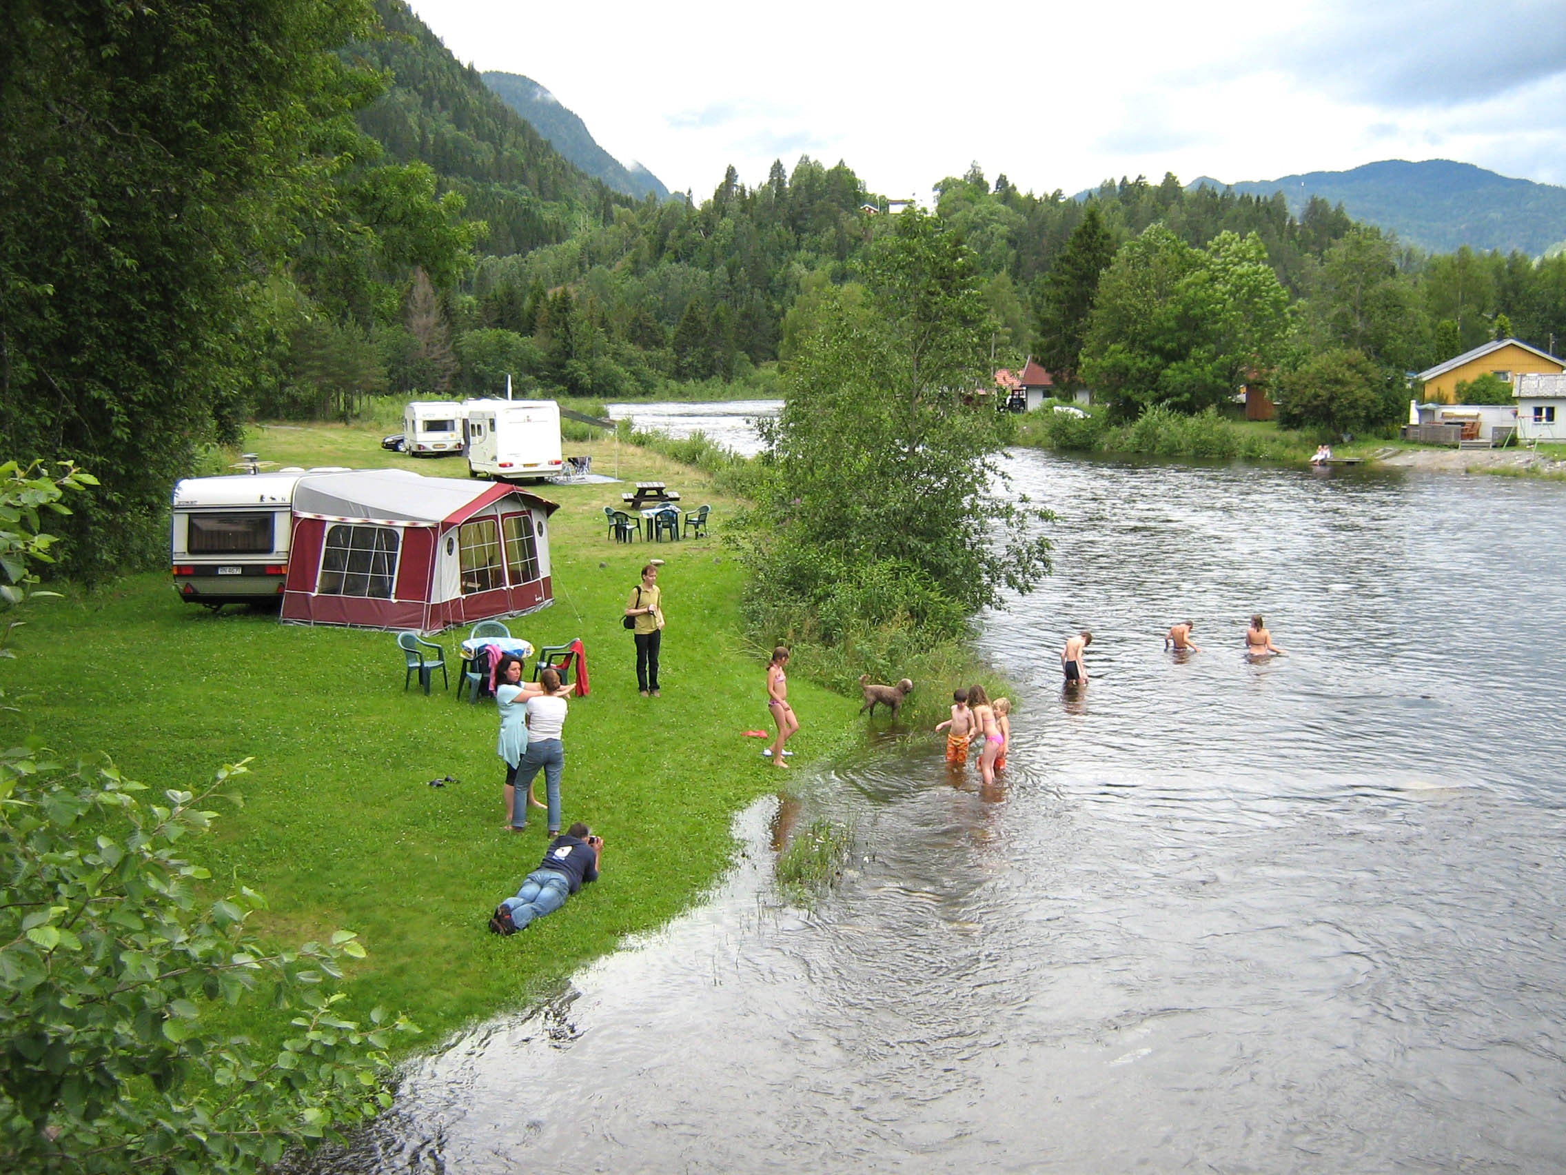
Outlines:
<svg viewBox="0 0 1566 1175"><path fill-rule="evenodd" d="M417 468L465 476L460 459L415 461L379 448L374 426L271 426L244 448L280 465ZM567 443L612 473L615 442ZM511 620L534 645L581 636L592 696L565 724L565 821L606 841L603 879L526 934L484 931L543 852L542 816L504 832L493 705L404 692L387 633L302 628L179 600L168 575L132 577L92 595L38 602L0 661L6 691L30 696L0 714L13 744L41 735L67 758L113 755L155 788L199 788L219 763L254 757L233 782L241 808L219 805L218 832L191 846L216 877L266 895L263 929L283 940L357 931L370 959L351 976L357 1009L401 1009L434 1045L462 1023L557 985L626 934L694 901L730 855L731 813L780 785L766 766L761 650L739 636L741 569L722 547L734 503L703 475L622 445L620 476L662 479L683 506L713 503L711 539L606 539L604 504L620 484L542 486L561 509L551 526L554 606ZM636 691L625 597L650 556L667 562L662 697ZM438 638L456 663L467 631ZM454 689L454 683L453 683ZM802 733L796 765L860 738L857 700L791 682ZM429 788L438 776L459 782ZM265 1012L241 1023L266 1032Z"/></svg>

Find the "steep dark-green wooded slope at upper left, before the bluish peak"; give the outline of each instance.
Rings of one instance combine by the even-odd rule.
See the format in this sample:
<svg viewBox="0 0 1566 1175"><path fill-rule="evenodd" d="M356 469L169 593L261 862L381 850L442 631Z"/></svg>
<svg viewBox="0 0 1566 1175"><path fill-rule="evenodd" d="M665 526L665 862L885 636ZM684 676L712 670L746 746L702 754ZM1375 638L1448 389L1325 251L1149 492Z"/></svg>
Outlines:
<svg viewBox="0 0 1566 1175"><path fill-rule="evenodd" d="M385 36L343 53L392 75L359 111L395 163L428 163L442 191L489 224L481 251L506 255L564 241L584 219L611 221L630 199L587 175L464 66L404 0L374 0Z"/></svg>

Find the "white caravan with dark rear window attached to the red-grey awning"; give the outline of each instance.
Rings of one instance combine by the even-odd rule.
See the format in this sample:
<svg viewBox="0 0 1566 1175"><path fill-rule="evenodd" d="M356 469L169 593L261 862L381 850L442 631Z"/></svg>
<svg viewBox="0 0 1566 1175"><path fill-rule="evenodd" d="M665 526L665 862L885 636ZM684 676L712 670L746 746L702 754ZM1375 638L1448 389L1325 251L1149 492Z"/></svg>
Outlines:
<svg viewBox="0 0 1566 1175"><path fill-rule="evenodd" d="M294 484L307 473L340 472L287 468L175 483L169 526L174 591L213 611L226 603L282 602Z"/></svg>

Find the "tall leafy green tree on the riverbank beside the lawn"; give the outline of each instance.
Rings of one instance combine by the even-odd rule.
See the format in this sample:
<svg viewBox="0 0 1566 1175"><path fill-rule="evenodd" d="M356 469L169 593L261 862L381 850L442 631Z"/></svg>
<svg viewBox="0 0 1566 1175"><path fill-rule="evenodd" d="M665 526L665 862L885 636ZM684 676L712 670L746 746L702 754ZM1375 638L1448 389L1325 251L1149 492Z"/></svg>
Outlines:
<svg viewBox="0 0 1566 1175"><path fill-rule="evenodd" d="M972 252L910 210L864 284L860 304L824 298L767 432L752 598L828 639L896 620L951 636L1030 589L1048 542L1037 511L991 497L1010 417L971 404L990 345Z"/></svg>

